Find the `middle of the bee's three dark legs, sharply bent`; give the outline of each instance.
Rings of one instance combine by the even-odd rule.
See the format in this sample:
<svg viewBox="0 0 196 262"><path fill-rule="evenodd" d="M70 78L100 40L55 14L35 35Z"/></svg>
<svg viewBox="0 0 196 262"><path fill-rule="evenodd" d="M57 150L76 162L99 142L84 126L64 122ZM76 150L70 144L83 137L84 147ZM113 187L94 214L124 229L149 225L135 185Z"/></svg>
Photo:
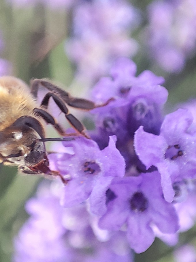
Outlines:
<svg viewBox="0 0 196 262"><path fill-rule="evenodd" d="M65 117L67 118L67 120L69 121L69 123L71 124L71 126L78 131L78 133L80 133L81 135L84 135L86 138L90 138L88 137L88 135L85 133L85 127L82 125L82 123L72 114L69 113L69 110L67 108L67 106L65 105L65 102L56 94L48 92L41 103L41 108L47 109L48 107L48 103L49 103L49 99L50 97L53 98L54 102L56 103L56 105L61 109L61 111L65 114Z"/></svg>

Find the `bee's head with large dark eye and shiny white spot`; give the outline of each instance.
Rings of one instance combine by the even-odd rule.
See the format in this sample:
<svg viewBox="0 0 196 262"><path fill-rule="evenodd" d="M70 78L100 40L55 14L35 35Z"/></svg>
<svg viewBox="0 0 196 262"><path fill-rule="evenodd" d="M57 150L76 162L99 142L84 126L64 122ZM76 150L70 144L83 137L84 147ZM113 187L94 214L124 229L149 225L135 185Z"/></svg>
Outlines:
<svg viewBox="0 0 196 262"><path fill-rule="evenodd" d="M41 123L31 116L18 118L10 127L0 132L0 153L8 161L20 166L34 166L41 161L48 165ZM17 157L8 157L18 154Z"/></svg>

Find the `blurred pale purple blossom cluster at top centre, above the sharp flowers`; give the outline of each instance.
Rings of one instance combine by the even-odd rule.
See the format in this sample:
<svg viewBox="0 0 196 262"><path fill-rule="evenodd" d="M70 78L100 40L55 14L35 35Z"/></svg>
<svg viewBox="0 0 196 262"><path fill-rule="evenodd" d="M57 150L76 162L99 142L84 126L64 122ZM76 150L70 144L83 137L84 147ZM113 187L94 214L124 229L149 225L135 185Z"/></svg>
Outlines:
<svg viewBox="0 0 196 262"><path fill-rule="evenodd" d="M116 57L135 55L137 42L130 35L138 24L139 14L128 1L80 1L73 10L72 36L65 43L78 77L91 83L108 72Z"/></svg>

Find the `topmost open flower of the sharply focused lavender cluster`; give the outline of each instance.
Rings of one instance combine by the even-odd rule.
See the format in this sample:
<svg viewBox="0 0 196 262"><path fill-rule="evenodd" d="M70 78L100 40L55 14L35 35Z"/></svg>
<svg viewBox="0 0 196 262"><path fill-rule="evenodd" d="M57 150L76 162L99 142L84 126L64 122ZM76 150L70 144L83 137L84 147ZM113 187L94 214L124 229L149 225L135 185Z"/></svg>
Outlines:
<svg viewBox="0 0 196 262"><path fill-rule="evenodd" d="M137 88L143 88L143 95L145 95L149 94L154 86L157 86L157 89L160 88L159 85L164 82L163 77L157 77L149 70L143 71L136 77L136 70L137 66L132 60L126 57L116 59L110 69L112 78L102 77L100 79L93 88L93 99L99 103L113 96L126 99L129 95L131 98L131 93L137 92ZM132 91L132 89L135 91ZM156 91L155 89L154 92ZM164 91L162 87L159 92L160 96L157 97L157 103L165 103L168 95L167 90Z"/></svg>

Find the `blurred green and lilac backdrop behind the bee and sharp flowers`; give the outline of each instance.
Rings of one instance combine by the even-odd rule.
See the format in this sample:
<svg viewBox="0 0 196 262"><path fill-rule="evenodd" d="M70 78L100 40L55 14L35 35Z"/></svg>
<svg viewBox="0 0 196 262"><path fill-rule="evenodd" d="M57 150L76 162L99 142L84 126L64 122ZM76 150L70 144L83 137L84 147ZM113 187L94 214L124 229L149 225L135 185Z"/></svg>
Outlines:
<svg viewBox="0 0 196 262"><path fill-rule="evenodd" d="M165 78L168 113L196 96L195 55L195 0L0 0L0 75L26 83L49 78L72 95L90 97L115 58L126 56L137 74L148 69ZM28 218L25 201L41 179L1 167L0 261L11 261L12 239ZM178 246L185 243L195 246L196 228L180 235ZM175 261L178 246L156 239L135 261Z"/></svg>

